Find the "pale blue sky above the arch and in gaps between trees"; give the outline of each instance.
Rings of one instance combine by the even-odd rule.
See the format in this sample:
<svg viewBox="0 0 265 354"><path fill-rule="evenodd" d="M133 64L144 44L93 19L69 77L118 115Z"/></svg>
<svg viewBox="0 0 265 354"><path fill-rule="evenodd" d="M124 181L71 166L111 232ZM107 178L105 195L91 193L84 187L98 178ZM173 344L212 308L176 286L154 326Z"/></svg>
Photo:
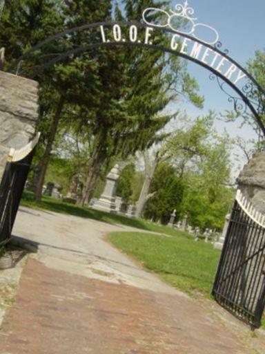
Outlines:
<svg viewBox="0 0 265 354"><path fill-rule="evenodd" d="M169 1L172 8L177 3L184 3L184 0ZM220 41L223 47L229 50L229 56L236 62L246 67L249 59L255 57L256 50L265 50L265 0L189 0L188 4L194 8L198 22L210 25L219 32ZM185 110L190 117L204 115L209 110L222 112L232 110L233 104L228 102L228 97L222 93L216 81L210 81L210 72L206 69L190 63L188 70L200 86L200 93L204 95L204 109L196 109L188 102L180 104L181 110ZM230 136L242 136L248 140L255 138L251 127L239 128L240 120L235 123L224 123L217 121L215 127L219 132L226 129ZM239 153L239 150L234 151ZM236 177L242 165L246 162L243 158L235 162L233 176Z"/></svg>

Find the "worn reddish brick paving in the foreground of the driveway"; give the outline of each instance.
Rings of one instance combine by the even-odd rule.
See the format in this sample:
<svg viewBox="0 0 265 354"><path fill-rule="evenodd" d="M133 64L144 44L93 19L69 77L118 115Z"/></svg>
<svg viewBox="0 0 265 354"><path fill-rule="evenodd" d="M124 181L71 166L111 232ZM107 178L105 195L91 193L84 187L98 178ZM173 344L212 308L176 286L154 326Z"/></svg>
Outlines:
<svg viewBox="0 0 265 354"><path fill-rule="evenodd" d="M0 354L250 354L196 301L29 259Z"/></svg>

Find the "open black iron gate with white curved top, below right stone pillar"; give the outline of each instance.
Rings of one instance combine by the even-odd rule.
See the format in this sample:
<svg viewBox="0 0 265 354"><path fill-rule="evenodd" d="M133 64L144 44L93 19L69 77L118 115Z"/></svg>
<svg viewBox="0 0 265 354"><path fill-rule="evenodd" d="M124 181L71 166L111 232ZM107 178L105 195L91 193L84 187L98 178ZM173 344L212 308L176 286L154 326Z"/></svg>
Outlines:
<svg viewBox="0 0 265 354"><path fill-rule="evenodd" d="M260 326L265 307L265 216L239 191L230 216L213 296L253 328Z"/></svg>

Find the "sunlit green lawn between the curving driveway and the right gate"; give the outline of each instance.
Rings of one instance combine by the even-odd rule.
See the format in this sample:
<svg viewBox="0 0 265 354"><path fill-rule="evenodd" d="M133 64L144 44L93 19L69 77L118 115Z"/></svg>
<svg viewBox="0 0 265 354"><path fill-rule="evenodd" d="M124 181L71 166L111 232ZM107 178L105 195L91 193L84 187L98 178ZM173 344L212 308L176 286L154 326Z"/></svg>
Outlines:
<svg viewBox="0 0 265 354"><path fill-rule="evenodd" d="M157 236L137 232L114 232L110 241L172 286L210 296L220 251L191 237Z"/></svg>

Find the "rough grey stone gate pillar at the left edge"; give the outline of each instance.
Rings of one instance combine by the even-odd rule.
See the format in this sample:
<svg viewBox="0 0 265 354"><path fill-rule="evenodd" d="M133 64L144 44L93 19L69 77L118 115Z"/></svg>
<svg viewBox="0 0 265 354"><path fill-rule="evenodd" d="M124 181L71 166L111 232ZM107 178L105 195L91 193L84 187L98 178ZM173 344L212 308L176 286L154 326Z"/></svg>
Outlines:
<svg viewBox="0 0 265 354"><path fill-rule="evenodd" d="M20 149L35 136L38 83L0 71L0 180L10 148Z"/></svg>

